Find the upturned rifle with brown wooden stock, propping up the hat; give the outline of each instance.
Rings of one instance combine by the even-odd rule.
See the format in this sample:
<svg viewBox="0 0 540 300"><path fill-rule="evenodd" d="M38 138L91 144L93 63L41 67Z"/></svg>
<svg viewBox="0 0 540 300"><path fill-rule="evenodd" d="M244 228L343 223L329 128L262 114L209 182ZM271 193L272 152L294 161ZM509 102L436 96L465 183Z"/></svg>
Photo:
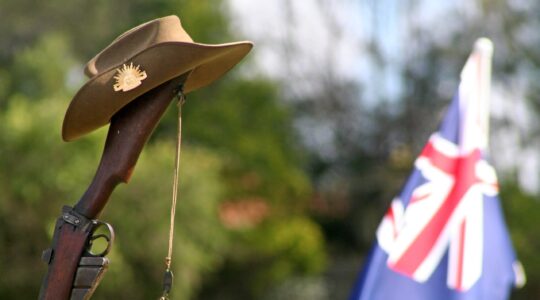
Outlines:
<svg viewBox="0 0 540 300"><path fill-rule="evenodd" d="M142 148L169 103L182 92L188 74L139 96L112 117L103 155L90 186L73 208L64 206L56 221L52 247L43 253L49 267L40 300L92 296L108 268L105 255L114 241L112 226L96 218L114 188L120 182L128 183ZM97 234L100 227L105 227L108 234ZM92 253L93 241L100 238L107 241L106 249Z"/></svg>

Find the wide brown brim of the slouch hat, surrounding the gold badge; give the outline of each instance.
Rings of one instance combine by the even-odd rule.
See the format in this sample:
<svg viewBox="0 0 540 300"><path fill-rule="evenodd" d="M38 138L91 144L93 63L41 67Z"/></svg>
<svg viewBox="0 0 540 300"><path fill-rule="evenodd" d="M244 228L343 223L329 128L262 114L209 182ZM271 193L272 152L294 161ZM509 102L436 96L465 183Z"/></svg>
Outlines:
<svg viewBox="0 0 540 300"><path fill-rule="evenodd" d="M69 104L62 125L62 138L72 141L101 126L135 98L147 91L191 71L184 93L204 87L221 77L251 50L251 42L220 45L165 42L149 47L124 63L133 63L145 71L147 78L135 89L114 91L115 66L92 77Z"/></svg>

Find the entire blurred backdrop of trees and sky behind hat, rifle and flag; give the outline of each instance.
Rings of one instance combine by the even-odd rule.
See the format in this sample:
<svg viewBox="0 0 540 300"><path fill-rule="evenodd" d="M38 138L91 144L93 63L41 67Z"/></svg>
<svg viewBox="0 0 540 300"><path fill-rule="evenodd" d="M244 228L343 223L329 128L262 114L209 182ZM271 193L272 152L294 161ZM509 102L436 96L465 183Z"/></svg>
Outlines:
<svg viewBox="0 0 540 300"><path fill-rule="evenodd" d="M0 298L35 299L63 204L94 174L106 128L60 138L86 61L177 14L195 41L252 40L188 95L172 299L346 299L375 229L457 90L495 45L491 157L540 298L540 3L535 0L0 0ZM101 219L116 229L94 299L157 299L176 110Z"/></svg>

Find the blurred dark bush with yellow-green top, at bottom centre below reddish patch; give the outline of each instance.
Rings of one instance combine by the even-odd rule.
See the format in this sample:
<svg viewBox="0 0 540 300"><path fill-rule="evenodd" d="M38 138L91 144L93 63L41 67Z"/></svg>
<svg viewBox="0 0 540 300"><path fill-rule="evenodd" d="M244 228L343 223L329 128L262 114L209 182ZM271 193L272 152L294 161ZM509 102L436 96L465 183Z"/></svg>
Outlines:
<svg viewBox="0 0 540 300"><path fill-rule="evenodd" d="M219 278L210 277L201 299L261 299L291 278L312 278L326 267L324 237L305 216L274 217L231 235L224 268Z"/></svg>

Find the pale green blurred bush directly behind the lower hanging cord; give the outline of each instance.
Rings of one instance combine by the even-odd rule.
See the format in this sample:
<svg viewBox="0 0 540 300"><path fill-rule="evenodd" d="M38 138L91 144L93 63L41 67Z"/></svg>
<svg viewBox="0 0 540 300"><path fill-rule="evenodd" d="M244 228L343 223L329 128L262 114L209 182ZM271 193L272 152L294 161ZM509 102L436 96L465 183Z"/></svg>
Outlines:
<svg viewBox="0 0 540 300"><path fill-rule="evenodd" d="M132 181L111 197L103 218L115 225L120 249L111 257L111 273L119 276L111 277L126 282L119 285L116 280L105 281L96 297L152 299L159 295L168 245L174 152L172 143L149 146L139 159ZM183 149L173 247L175 299L190 298L203 275L219 266L228 245L217 218L223 190L220 168L219 158L210 152ZM127 268L116 265L118 256ZM134 284L138 288L128 292L117 288Z"/></svg>

